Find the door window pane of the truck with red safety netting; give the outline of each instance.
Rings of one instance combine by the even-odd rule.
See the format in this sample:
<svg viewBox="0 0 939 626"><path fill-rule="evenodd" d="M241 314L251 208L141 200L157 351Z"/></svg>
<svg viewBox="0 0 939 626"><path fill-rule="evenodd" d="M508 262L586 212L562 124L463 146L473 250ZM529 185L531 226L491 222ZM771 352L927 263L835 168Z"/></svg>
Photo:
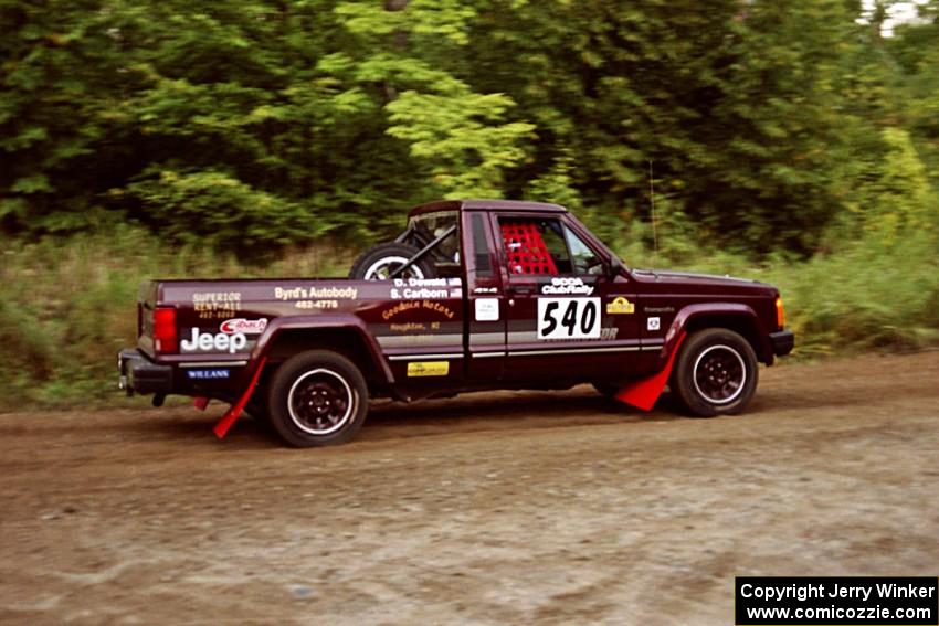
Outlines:
<svg viewBox="0 0 939 626"><path fill-rule="evenodd" d="M511 275L571 274L568 245L560 221L544 217L499 217L506 267Z"/></svg>

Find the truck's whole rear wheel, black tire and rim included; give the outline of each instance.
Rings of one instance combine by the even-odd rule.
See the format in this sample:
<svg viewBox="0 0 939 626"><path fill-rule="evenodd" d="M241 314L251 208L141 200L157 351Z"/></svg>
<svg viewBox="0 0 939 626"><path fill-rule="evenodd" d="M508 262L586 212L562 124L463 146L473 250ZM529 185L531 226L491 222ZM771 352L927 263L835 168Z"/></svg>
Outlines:
<svg viewBox="0 0 939 626"><path fill-rule="evenodd" d="M271 425L298 448L348 442L368 412L362 373L346 357L310 350L277 369L267 394Z"/></svg>

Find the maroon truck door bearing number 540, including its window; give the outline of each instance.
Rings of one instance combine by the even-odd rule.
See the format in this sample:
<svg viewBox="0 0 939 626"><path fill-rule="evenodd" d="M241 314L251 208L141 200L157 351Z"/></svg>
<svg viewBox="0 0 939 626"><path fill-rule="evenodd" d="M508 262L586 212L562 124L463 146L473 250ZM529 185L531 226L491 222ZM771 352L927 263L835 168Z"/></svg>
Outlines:
<svg viewBox="0 0 939 626"><path fill-rule="evenodd" d="M493 215L505 273L504 379L626 378L640 351L635 297L625 273L585 243L563 213Z"/></svg>

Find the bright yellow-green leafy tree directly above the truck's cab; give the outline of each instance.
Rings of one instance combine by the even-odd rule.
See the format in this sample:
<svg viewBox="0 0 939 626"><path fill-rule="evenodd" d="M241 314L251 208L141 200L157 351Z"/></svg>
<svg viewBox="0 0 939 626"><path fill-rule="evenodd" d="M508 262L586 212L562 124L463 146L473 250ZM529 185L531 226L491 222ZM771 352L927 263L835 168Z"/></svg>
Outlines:
<svg viewBox="0 0 939 626"><path fill-rule="evenodd" d="M481 94L457 78L475 11L455 0L411 0L390 10L344 2L336 13L361 53L339 52L321 68L351 93L370 93L387 116L387 134L408 146L415 182L431 195L500 197L503 173L525 151L534 126L506 121L515 106L499 93Z"/></svg>

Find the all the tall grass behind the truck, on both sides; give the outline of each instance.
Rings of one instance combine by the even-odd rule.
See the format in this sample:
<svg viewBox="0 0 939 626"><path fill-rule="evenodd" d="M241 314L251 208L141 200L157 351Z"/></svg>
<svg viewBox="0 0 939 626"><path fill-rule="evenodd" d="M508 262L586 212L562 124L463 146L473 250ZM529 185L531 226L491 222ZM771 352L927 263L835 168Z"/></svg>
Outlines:
<svg viewBox="0 0 939 626"><path fill-rule="evenodd" d="M688 241L666 238L655 265L777 285L796 332L796 359L939 344L931 237L914 236L894 247L855 242L809 261L777 256L761 263ZM653 265L642 245L619 250L631 266ZM152 234L122 226L68 240L0 240L0 411L12 411L146 402L125 400L115 384L115 356L134 343L144 278L344 276L352 253L309 246L257 265L233 253L168 250Z"/></svg>

